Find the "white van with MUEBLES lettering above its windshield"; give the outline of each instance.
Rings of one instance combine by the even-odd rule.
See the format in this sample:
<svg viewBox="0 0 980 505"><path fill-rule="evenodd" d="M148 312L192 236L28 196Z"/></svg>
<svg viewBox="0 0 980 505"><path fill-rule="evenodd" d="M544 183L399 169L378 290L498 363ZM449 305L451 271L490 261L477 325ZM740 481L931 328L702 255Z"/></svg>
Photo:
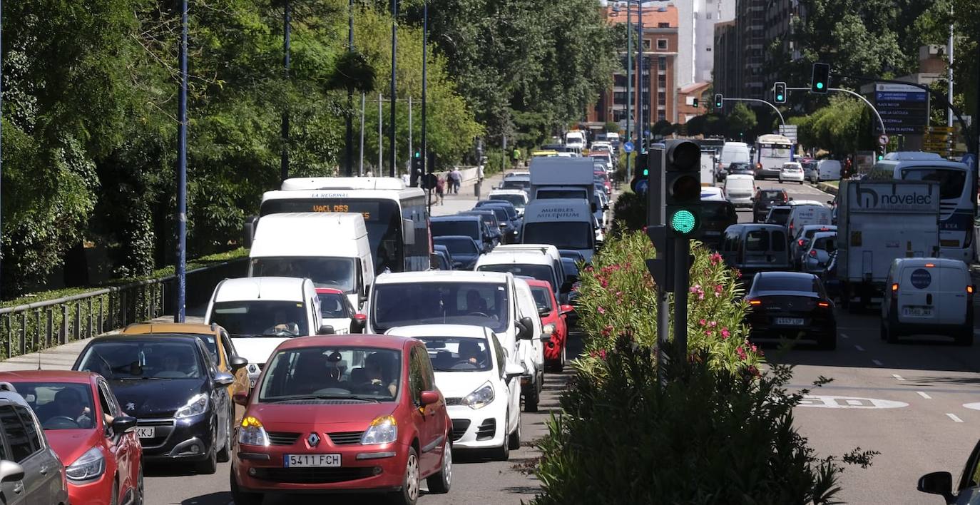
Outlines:
<svg viewBox="0 0 980 505"><path fill-rule="evenodd" d="M520 241L579 251L592 261L596 234L588 202L580 199L532 200L524 207Z"/></svg>

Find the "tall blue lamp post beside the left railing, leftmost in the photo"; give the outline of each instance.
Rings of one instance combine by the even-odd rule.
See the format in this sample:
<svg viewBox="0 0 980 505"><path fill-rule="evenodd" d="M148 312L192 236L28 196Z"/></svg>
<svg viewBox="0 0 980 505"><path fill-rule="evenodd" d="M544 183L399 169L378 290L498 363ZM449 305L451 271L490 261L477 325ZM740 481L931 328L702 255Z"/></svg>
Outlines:
<svg viewBox="0 0 980 505"><path fill-rule="evenodd" d="M177 255L173 322L183 323L187 287L187 0L180 0L180 91L177 94Z"/></svg>

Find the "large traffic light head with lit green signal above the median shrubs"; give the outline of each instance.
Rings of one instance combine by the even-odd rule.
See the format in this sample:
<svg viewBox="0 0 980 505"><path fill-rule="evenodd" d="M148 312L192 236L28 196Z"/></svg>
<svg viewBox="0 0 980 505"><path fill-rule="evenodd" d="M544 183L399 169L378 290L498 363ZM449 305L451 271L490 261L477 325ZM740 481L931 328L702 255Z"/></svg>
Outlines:
<svg viewBox="0 0 980 505"><path fill-rule="evenodd" d="M701 148L690 140L666 142L664 204L667 233L690 238L701 227Z"/></svg>

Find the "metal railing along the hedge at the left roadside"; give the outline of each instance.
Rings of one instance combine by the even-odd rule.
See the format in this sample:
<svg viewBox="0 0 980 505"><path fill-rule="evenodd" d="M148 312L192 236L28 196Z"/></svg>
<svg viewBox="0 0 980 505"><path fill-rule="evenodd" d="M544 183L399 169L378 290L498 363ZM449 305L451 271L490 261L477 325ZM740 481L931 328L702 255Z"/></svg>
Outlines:
<svg viewBox="0 0 980 505"><path fill-rule="evenodd" d="M248 258L187 272L187 304L206 302L222 278L241 277ZM239 272L236 272L239 270ZM172 314L175 276L150 278L0 309L0 359L100 335Z"/></svg>

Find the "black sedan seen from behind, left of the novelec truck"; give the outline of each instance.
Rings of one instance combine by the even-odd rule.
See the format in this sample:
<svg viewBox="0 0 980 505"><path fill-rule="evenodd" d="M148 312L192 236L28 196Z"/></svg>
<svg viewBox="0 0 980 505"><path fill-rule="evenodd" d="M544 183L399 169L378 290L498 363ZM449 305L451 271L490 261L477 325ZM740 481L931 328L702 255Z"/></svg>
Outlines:
<svg viewBox="0 0 980 505"><path fill-rule="evenodd" d="M753 340L805 338L837 348L834 302L820 278L800 272L760 272L745 297Z"/></svg>

